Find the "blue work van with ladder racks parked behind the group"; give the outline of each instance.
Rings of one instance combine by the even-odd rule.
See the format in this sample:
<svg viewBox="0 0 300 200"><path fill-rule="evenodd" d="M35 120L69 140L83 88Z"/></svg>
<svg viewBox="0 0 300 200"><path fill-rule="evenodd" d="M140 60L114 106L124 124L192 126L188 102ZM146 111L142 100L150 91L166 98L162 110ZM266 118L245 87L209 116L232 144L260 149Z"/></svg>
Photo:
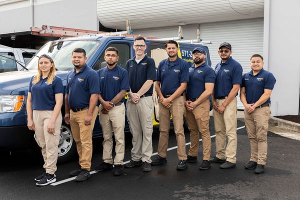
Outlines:
<svg viewBox="0 0 300 200"><path fill-rule="evenodd" d="M108 46L114 46L119 51L118 64L125 67L126 61L134 56L133 37L125 36L79 36L50 41L42 46L36 55L49 54L57 68L56 75L60 76L65 87L66 75L73 70L71 52L75 47L85 49L87 65L94 70L106 66L104 62L104 50ZM191 51L199 44L180 43L178 56L192 63ZM167 58L164 50L165 41L146 39L146 54L153 57L156 67L160 60ZM206 62L211 65L207 46L201 45L206 51ZM33 56L26 64L28 70L0 73L0 149L22 149L35 145L34 131L27 128L26 97L30 77L36 74L38 57ZM127 96L125 96L125 99ZM153 92L154 119L153 124L158 124L158 103L156 92ZM62 106L64 115L64 106ZM125 124L125 131L129 125ZM76 153L75 142L72 138L70 127L64 122L61 125L61 133L58 146L58 162L65 162ZM102 130L97 117L93 129L93 136L101 136Z"/></svg>

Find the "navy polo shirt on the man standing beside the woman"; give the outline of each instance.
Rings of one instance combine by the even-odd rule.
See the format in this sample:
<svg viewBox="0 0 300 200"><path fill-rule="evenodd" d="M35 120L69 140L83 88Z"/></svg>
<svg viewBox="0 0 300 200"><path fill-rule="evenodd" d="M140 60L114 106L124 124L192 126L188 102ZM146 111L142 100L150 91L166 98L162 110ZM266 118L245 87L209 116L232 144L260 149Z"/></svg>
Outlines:
<svg viewBox="0 0 300 200"><path fill-rule="evenodd" d="M78 73L74 68L67 74L65 92L68 94L70 108L88 106L90 95L100 93L97 73L86 64Z"/></svg>

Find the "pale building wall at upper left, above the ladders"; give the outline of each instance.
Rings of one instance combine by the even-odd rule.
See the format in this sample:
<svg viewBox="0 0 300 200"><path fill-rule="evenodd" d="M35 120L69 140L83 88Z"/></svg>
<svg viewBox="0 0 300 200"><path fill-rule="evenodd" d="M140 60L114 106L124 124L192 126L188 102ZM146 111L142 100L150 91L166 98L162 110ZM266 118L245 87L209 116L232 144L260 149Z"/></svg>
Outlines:
<svg viewBox="0 0 300 200"><path fill-rule="evenodd" d="M41 25L98 30L96 0L34 0L33 13L34 24L29 0L0 4L0 33L28 31Z"/></svg>

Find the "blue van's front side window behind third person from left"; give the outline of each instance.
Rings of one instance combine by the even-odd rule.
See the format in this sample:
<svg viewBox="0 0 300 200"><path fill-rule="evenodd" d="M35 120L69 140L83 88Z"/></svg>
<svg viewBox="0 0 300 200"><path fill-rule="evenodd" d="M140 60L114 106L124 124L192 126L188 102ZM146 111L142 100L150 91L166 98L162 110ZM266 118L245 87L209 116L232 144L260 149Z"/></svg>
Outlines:
<svg viewBox="0 0 300 200"><path fill-rule="evenodd" d="M113 47L117 48L118 56L119 56L117 64L120 65L121 67L125 68L126 61L130 58L129 45L124 44L124 43L112 43L112 44L109 44L108 46L113 46ZM100 58L98 59L97 63L94 65L93 69L98 70L105 66L106 66L106 62L104 60L104 52L103 52L102 55L100 55Z"/></svg>

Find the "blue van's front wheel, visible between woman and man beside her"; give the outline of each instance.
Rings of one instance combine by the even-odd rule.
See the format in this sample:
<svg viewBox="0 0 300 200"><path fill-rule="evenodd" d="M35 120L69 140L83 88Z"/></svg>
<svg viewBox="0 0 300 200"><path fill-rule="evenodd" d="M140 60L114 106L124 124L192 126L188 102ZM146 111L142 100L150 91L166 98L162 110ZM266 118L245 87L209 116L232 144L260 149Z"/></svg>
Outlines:
<svg viewBox="0 0 300 200"><path fill-rule="evenodd" d="M66 124L61 124L57 163L64 163L74 157L76 144L72 136L71 129Z"/></svg>

